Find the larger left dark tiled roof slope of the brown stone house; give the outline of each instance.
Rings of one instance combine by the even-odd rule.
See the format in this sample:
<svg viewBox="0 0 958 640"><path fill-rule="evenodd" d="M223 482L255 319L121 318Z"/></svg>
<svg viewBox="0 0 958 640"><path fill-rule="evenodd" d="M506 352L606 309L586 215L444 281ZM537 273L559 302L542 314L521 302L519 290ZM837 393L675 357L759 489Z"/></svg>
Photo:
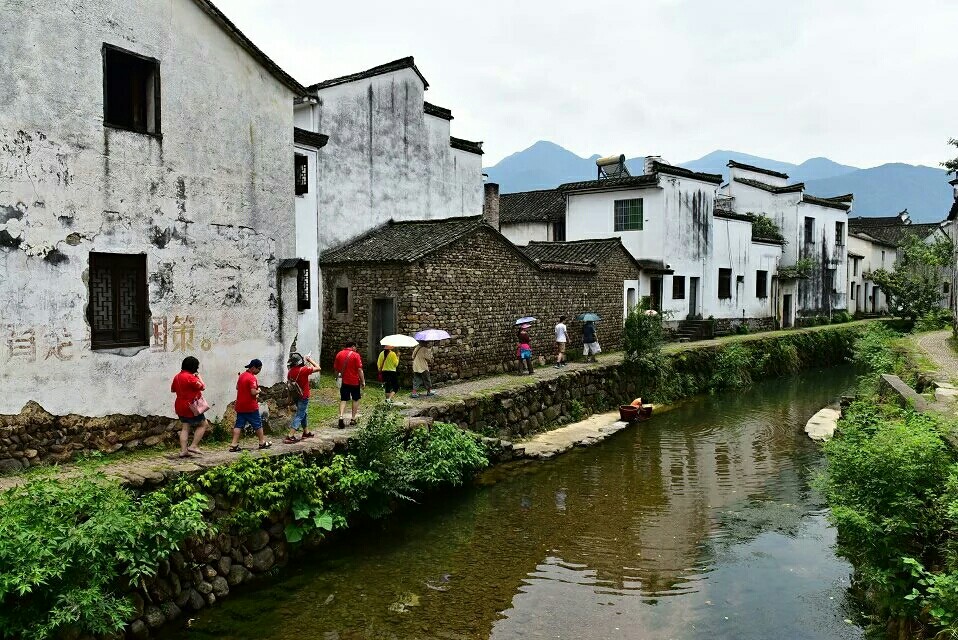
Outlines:
<svg viewBox="0 0 958 640"><path fill-rule="evenodd" d="M390 220L339 247L324 251L319 261L321 264L415 262L483 226L488 225L482 216L408 222Z"/></svg>

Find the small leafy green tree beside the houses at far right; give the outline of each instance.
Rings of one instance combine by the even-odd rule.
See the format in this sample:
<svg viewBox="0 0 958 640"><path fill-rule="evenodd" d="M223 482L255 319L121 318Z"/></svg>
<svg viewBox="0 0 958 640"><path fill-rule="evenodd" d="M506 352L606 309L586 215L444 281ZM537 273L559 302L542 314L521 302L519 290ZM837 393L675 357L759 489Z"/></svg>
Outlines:
<svg viewBox="0 0 958 640"><path fill-rule="evenodd" d="M940 307L942 269L951 264L954 246L949 239L933 244L909 237L899 249L895 270L878 269L871 279L888 296L888 305L915 320Z"/></svg>

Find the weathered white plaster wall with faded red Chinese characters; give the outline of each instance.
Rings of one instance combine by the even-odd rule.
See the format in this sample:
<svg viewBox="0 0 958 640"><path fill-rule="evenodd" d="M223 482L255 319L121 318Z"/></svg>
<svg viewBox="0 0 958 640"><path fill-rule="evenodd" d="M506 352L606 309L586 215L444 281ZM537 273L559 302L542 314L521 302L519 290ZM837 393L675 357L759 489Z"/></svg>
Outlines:
<svg viewBox="0 0 958 640"><path fill-rule="evenodd" d="M191 0L20 5L0 21L0 413L172 415L196 355L222 414L250 358L283 371L293 94ZM103 125L104 42L160 60L162 141ZM150 347L90 350L91 251L146 254Z"/></svg>

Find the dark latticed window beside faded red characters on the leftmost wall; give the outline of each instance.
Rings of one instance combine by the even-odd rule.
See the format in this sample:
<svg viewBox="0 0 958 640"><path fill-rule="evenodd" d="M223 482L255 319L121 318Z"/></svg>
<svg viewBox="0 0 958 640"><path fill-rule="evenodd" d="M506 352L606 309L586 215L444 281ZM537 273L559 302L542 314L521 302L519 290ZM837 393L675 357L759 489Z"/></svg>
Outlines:
<svg viewBox="0 0 958 640"><path fill-rule="evenodd" d="M90 254L87 317L93 349L149 344L145 255Z"/></svg>

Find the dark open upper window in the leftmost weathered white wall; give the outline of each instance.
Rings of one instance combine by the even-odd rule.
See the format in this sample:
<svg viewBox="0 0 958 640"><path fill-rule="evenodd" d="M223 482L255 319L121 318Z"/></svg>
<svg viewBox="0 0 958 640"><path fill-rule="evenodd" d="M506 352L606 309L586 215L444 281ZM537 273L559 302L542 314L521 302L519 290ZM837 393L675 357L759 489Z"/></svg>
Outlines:
<svg viewBox="0 0 958 640"><path fill-rule="evenodd" d="M160 62L103 45L103 122L138 133L160 133Z"/></svg>

